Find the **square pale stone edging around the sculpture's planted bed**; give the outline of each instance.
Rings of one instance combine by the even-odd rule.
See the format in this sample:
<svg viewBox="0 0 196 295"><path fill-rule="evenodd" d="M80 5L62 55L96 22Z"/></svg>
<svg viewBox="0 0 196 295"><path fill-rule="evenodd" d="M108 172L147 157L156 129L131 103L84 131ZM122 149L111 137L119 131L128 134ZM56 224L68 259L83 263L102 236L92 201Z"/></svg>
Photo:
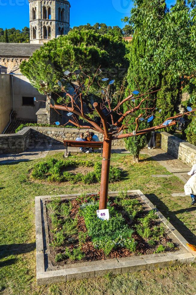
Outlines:
<svg viewBox="0 0 196 295"><path fill-rule="evenodd" d="M109 192L109 194L118 194L119 191ZM58 282L66 282L72 279L95 278L103 276L108 272L114 274L122 274L126 272L136 272L139 270L151 270L158 267L167 267L175 264L190 263L196 259L196 252L192 251L186 246L187 241L182 235L167 221L167 219L158 211L158 209L145 197L140 190L127 191L127 193L137 193L145 201L150 209L155 209L156 214L164 223L164 225L171 231L175 238L185 250L185 253L159 253L142 256L131 256L118 259L108 259L105 261L95 261L89 266L60 269L55 271L46 271L44 264L44 219L42 214L41 203L44 199L52 197L66 197L73 199L80 194L69 195L54 195L54 196L38 196L35 197L35 228L36 228L36 273L37 285L53 284ZM92 193L90 193L92 194ZM90 195L87 194L87 195ZM96 193L94 193L96 194ZM90 263L89 263L90 264Z"/></svg>

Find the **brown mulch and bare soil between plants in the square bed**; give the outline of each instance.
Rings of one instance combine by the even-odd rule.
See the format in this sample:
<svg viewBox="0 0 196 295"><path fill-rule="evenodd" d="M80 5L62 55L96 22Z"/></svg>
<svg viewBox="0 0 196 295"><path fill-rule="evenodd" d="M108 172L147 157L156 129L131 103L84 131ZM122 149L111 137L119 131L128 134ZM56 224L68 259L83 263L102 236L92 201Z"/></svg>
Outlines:
<svg viewBox="0 0 196 295"><path fill-rule="evenodd" d="M145 202L138 196L130 196L130 198L135 198L137 200L139 200L140 204L143 207L143 212L138 213L137 216L135 217L135 219L132 221L130 220L129 216L126 214L126 212L123 211L123 208L118 206L114 200L116 197L110 197L110 202L111 206L115 207L115 210L117 210L119 213L122 214L122 216L124 217L125 221L127 222L127 224L133 228L136 224L138 224L137 219L138 218L142 218L144 217L148 212L149 212L149 207L145 204ZM48 201L50 202L50 201ZM68 202L67 200L63 200L62 202ZM78 210L79 210L79 203L77 200L72 200L72 210L70 213L71 218L75 218L77 216L78 218L78 232L86 232L87 228L85 226L85 222L84 222L84 218L78 215ZM47 204L47 202L46 202ZM49 217L48 214L48 210L47 210L47 223L48 223L48 232L49 232L49 242L51 243L53 241L53 232L52 232L52 224L51 224L51 219ZM154 226L160 226L161 225L161 220L157 219L155 221L152 221L151 223L151 228L153 228ZM111 253L109 254L109 256L105 256L103 250L99 250L94 248L93 243L91 242L91 238L87 236L86 242L85 244L82 246L82 251L85 254L85 257L83 259L81 259L80 261L71 261L70 259L64 259L63 261L60 262L55 262L55 256L59 253L64 253L65 251L65 247L69 247L70 250L72 250L73 248L76 248L79 246L78 243L78 238L77 236L73 236L73 240L75 240L74 244L66 244L61 246L61 247L49 247L49 253L48 253L48 259L51 261L53 266L63 266L63 265L67 265L67 264L73 264L73 263L80 263L80 262L89 262L89 261L96 261L96 260L105 260L105 259L112 259L112 258L121 258L121 257L129 257L129 256L138 256L138 255L144 255L144 254L153 254L155 252L155 250L157 249L157 247L159 245L163 245L164 247L166 247L165 252L174 252L179 250L177 247L175 247L174 249L170 249L166 246L167 242L171 242L171 239L167 236L167 234L164 233L163 237L160 237L159 241L156 241L156 245L155 246L151 246L147 243L147 239L143 239L141 236L139 236L135 232L133 233L132 237L135 239L135 241L137 242L137 247L136 247L136 252L130 252L129 250L127 250L126 248L118 248L115 250L112 250Z"/></svg>

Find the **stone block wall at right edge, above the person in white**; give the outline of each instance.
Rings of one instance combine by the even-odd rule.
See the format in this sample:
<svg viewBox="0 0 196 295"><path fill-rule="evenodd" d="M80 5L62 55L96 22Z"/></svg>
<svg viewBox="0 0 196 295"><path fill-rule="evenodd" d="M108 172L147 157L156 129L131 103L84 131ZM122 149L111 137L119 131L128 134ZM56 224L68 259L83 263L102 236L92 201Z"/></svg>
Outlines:
<svg viewBox="0 0 196 295"><path fill-rule="evenodd" d="M176 136L161 132L161 148L189 166L196 164L196 146Z"/></svg>

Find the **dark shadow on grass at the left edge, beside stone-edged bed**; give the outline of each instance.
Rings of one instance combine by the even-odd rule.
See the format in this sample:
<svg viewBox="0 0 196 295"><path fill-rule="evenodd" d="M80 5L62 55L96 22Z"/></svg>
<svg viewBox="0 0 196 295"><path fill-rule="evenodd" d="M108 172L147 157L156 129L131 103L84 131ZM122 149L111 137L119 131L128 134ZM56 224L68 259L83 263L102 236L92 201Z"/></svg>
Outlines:
<svg viewBox="0 0 196 295"><path fill-rule="evenodd" d="M0 259L4 258L5 256L29 253L35 250L35 247L35 243L0 245Z"/></svg>

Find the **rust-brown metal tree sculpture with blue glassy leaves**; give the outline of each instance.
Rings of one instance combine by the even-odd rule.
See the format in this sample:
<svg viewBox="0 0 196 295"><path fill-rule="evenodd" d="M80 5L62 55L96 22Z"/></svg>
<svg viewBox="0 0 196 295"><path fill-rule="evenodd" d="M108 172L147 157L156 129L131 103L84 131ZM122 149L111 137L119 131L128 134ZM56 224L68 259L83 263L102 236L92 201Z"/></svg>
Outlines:
<svg viewBox="0 0 196 295"><path fill-rule="evenodd" d="M178 123L179 118L183 117L184 115L189 116L196 110L192 110L190 107L188 107L188 112L167 118L158 126L140 130L140 122L147 120L149 123L154 119L154 113L157 111L157 109L155 107L155 100L151 100L150 96L152 93L155 93L161 89L153 90L155 88L153 87L145 93L141 93L138 89L134 90L126 98L123 98L123 86L121 86L121 90L118 93L115 93L112 91L112 85L115 83L115 80L111 80L109 82L108 78L101 79L100 73L101 70L98 69L93 77L91 77L85 74L82 69L76 70L73 73L66 71L64 73L64 79L62 82L57 81L58 87L61 89L61 92L64 93L64 98L61 97L63 103L60 105L55 104L54 100L49 97L46 91L47 87L45 87L43 83L41 83L41 88L47 95L48 99L51 100L51 108L57 112L58 110L67 111L67 115L72 116L72 119L69 120L69 123L72 123L81 129L91 128L96 132L103 134L103 159L99 205L99 209L101 210L106 209L107 207L112 141L121 138L129 138L131 136L143 135L152 131L175 126ZM73 80L75 81L73 82ZM66 86L62 85L63 81L66 85L69 83L69 85L74 87L72 94L70 94L70 91L68 92L66 90ZM97 93L100 94L100 102L94 102L92 106L89 102L87 102L87 98L90 86L93 83L99 85L101 91L100 89L97 90ZM105 85L105 83L107 83L107 85ZM114 96L116 99L116 105L115 107L112 107L112 97ZM125 103L127 111L123 112L123 105ZM100 118L99 123L97 123L97 120L92 118L92 113L95 111L97 116ZM136 115L136 111L137 113L138 111L141 113ZM159 112L161 112L161 110ZM134 123L130 123L130 117L135 118ZM118 118L116 122L115 118ZM79 123L80 119L87 121L90 126L85 126L84 124ZM57 122L57 124L59 125L59 122ZM126 130L128 127L130 127L130 125L133 125L133 132L127 133Z"/></svg>

